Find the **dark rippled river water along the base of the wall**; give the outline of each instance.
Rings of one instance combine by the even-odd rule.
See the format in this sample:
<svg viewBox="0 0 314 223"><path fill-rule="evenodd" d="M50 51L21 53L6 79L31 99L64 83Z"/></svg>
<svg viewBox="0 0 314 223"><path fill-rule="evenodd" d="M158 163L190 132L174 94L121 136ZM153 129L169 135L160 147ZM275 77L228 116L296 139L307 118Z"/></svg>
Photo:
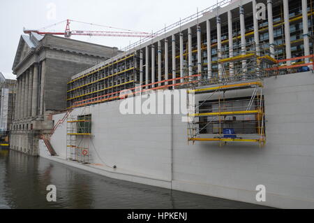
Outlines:
<svg viewBox="0 0 314 223"><path fill-rule="evenodd" d="M56 185L57 202L47 202ZM43 158L0 149L1 208L265 208L113 180Z"/></svg>

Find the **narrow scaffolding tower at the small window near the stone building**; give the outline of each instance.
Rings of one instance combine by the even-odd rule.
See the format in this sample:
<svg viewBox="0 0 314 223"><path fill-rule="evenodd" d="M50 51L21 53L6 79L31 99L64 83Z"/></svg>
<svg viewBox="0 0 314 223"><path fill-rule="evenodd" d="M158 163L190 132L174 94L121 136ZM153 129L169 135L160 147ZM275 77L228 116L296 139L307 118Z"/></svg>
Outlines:
<svg viewBox="0 0 314 223"><path fill-rule="evenodd" d="M70 115L66 129L66 159L90 164L91 115Z"/></svg>

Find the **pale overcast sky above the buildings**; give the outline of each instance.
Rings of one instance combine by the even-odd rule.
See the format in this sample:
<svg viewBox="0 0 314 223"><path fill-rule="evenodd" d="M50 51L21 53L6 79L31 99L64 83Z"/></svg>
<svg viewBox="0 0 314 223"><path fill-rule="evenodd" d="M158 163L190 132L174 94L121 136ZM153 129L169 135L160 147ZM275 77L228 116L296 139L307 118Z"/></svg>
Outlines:
<svg viewBox="0 0 314 223"><path fill-rule="evenodd" d="M1 0L0 1L0 72L12 74L13 60L23 27L40 29L66 19L119 27L135 31L158 31L165 24L196 13L216 0ZM55 8L55 10L54 10ZM47 30L64 31L66 23ZM86 24L70 24L72 30L117 31ZM75 37L81 41L124 48L139 38Z"/></svg>

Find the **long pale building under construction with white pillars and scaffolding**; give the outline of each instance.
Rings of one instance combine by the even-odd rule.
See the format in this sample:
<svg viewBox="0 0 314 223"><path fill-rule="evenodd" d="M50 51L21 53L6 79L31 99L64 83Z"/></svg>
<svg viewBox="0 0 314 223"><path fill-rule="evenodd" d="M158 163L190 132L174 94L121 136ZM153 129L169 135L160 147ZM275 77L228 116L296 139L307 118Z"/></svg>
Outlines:
<svg viewBox="0 0 314 223"><path fill-rule="evenodd" d="M73 75L40 156L250 203L263 185L259 204L314 208L313 6L223 0ZM174 97L165 115L121 113L127 100L176 90L188 114Z"/></svg>

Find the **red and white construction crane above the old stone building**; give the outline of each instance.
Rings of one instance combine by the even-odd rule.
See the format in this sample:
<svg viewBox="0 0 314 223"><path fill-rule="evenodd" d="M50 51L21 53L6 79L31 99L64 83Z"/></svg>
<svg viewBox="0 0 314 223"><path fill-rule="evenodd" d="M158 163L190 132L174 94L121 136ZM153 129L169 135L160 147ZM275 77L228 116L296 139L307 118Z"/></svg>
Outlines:
<svg viewBox="0 0 314 223"><path fill-rule="evenodd" d="M102 25L97 25L97 24L92 24L92 23L87 23L87 22L79 22L79 23L84 23L84 24L91 24L91 25L96 25L99 27L107 27L110 29L120 29L124 31L79 31L79 30L70 30L70 22L78 22L75 20L64 20L62 22L66 22L66 30L65 31L40 31L40 30L32 30L32 29L24 29L24 34L30 34L31 32L40 34L40 35L45 35L45 34L52 34L52 35L59 35L59 36L64 36L66 38L70 38L71 36L121 36L121 37L152 37L152 34L149 34L147 32L140 32L140 31L132 31L129 29L120 29L120 28L115 28L115 27L107 27L107 26L102 26ZM58 22L57 24L60 24L62 22ZM52 27L57 24L52 24L49 27ZM47 27L44 27L43 29L46 29Z"/></svg>

